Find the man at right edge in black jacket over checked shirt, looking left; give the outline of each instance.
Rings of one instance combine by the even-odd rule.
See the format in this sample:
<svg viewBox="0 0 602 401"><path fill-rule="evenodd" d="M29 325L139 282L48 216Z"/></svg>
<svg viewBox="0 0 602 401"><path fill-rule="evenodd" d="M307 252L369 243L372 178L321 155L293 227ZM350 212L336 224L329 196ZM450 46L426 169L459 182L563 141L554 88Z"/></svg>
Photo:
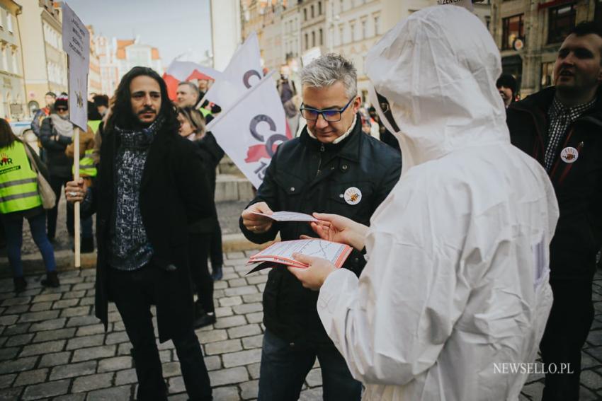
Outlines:
<svg viewBox="0 0 602 401"><path fill-rule="evenodd" d="M540 349L543 400L579 400L583 347L594 318L591 286L602 244L602 30L582 23L564 40L555 86L508 109L511 141L550 174L560 219L550 245L554 303Z"/></svg>

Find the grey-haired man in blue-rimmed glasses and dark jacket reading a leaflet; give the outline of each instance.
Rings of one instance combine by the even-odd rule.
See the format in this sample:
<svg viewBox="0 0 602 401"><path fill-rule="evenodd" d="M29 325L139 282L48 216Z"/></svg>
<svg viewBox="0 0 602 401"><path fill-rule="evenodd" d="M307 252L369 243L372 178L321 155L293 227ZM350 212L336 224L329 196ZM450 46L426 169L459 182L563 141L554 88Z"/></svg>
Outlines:
<svg viewBox="0 0 602 401"><path fill-rule="evenodd" d="M399 180L399 153L362 132L353 64L326 54L305 66L301 83L300 111L307 127L278 147L255 199L242 212L240 228L254 243L273 240L278 233L282 240L315 236L307 223L277 223L254 212L317 211L369 224ZM363 255L354 251L343 267L359 275L364 265ZM319 321L317 297L287 269L270 272L263 293L266 332L259 401L297 400L316 357L324 400L360 400L360 383Z"/></svg>

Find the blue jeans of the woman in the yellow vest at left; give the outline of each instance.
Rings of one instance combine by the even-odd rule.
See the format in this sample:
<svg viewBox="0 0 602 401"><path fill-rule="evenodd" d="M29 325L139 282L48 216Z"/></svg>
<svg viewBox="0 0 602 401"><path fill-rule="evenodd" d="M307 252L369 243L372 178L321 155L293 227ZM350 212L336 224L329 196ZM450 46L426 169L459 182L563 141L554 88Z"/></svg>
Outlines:
<svg viewBox="0 0 602 401"><path fill-rule="evenodd" d="M23 277L23 263L21 262L21 245L23 245L23 217L2 216L4 231L6 231L6 252L8 262L13 268L14 277ZM46 236L46 214L40 213L28 218L31 236L35 245L38 245L47 272L57 269L55 250Z"/></svg>

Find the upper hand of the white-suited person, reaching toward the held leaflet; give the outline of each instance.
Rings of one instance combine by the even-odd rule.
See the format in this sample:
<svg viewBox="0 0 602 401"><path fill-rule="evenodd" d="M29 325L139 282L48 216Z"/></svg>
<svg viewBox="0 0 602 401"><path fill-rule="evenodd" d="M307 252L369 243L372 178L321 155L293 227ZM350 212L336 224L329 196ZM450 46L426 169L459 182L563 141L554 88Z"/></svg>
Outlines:
<svg viewBox="0 0 602 401"><path fill-rule="evenodd" d="M312 229L323 240L347 244L357 250L364 248L367 226L338 214L314 213L314 217L319 221L311 223ZM309 237L302 236L301 238Z"/></svg>

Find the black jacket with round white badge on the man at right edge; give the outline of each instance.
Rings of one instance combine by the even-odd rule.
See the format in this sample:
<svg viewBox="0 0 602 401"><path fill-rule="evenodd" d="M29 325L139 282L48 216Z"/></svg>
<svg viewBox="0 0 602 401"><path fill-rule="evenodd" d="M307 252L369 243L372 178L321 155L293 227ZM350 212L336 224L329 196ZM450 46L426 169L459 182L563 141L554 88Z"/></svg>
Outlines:
<svg viewBox="0 0 602 401"><path fill-rule="evenodd" d="M555 88L528 96L508 109L512 144L544 164L547 110ZM579 152L574 163L560 158L567 146ZM602 245L602 90L594 107L567 129L550 170L560 219L550 244L550 279L591 280Z"/></svg>

